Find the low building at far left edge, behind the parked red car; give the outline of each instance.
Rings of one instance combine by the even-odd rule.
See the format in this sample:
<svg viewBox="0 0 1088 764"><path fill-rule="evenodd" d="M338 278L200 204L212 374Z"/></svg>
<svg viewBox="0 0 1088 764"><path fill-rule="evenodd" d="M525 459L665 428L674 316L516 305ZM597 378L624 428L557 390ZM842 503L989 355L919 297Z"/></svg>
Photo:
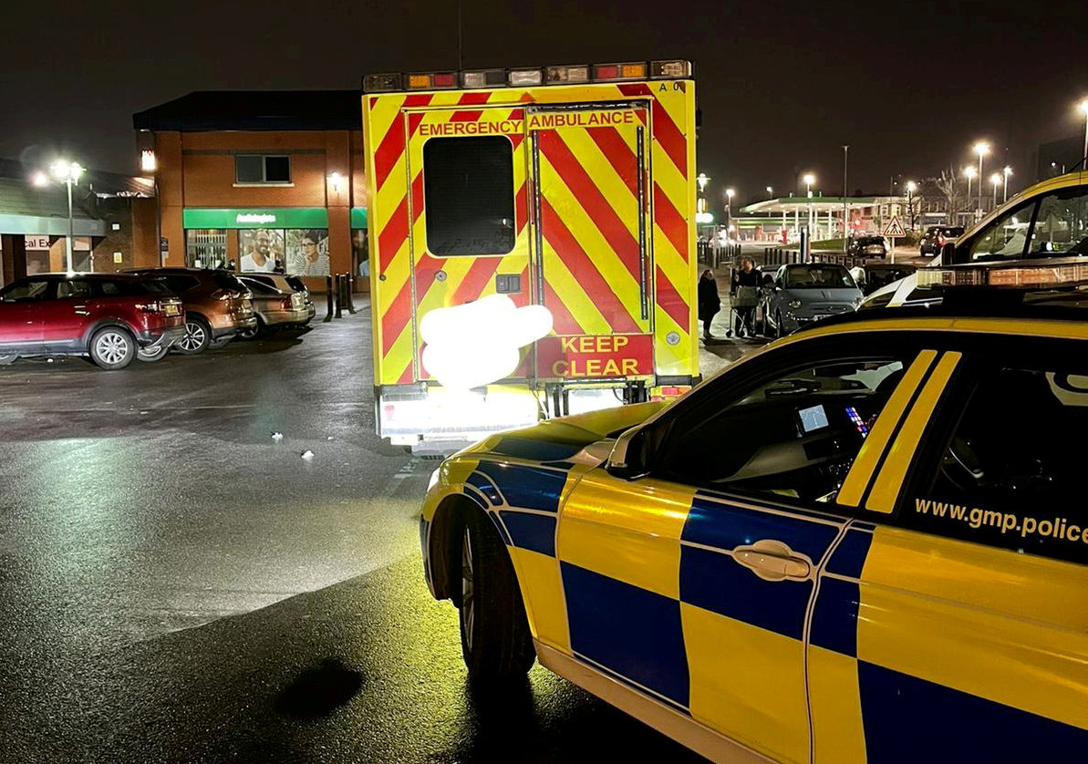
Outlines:
<svg viewBox="0 0 1088 764"><path fill-rule="evenodd" d="M34 185L41 170L0 159L0 285L67 269L67 190ZM157 264L152 181L88 170L72 190L74 270Z"/></svg>

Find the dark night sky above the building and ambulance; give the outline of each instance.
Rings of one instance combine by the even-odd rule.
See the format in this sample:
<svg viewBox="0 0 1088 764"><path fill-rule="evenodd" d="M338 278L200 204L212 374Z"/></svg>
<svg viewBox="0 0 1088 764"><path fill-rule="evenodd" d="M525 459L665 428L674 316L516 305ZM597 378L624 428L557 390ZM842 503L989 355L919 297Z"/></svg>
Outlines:
<svg viewBox="0 0 1088 764"><path fill-rule="evenodd" d="M457 66L457 3L25 2L4 10L0 157L66 152L135 173L132 114L205 89L353 88L367 72ZM1040 140L1083 135L1084 0L463 0L471 66L688 58L708 194L771 185L886 193L996 147L1019 182ZM803 190L803 186L802 186Z"/></svg>

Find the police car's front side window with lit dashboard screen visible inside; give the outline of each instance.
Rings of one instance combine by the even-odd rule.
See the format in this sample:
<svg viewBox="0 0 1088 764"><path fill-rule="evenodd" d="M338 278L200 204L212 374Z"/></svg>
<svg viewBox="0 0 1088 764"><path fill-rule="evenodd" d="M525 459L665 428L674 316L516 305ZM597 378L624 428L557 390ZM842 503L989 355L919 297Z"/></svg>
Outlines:
<svg viewBox="0 0 1088 764"><path fill-rule="evenodd" d="M677 482L832 502L908 357L823 361L680 415L654 472Z"/></svg>

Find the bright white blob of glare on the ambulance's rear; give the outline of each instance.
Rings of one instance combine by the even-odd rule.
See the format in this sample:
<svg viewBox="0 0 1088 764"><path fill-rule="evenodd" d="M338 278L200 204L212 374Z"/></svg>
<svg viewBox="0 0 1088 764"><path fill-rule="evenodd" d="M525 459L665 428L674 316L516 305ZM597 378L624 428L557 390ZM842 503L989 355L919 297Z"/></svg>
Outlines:
<svg viewBox="0 0 1088 764"><path fill-rule="evenodd" d="M552 311L542 305L519 308L507 295L435 308L419 323L423 368L444 387L480 387L512 374L520 348L551 331Z"/></svg>

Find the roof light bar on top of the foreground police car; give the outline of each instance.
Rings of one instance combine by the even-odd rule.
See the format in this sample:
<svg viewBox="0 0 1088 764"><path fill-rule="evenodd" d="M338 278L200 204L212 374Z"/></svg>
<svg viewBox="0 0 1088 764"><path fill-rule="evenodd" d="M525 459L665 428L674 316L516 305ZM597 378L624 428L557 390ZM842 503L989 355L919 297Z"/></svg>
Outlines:
<svg viewBox="0 0 1088 764"><path fill-rule="evenodd" d="M1088 257L919 268L918 288L1055 289L1088 286Z"/></svg>

